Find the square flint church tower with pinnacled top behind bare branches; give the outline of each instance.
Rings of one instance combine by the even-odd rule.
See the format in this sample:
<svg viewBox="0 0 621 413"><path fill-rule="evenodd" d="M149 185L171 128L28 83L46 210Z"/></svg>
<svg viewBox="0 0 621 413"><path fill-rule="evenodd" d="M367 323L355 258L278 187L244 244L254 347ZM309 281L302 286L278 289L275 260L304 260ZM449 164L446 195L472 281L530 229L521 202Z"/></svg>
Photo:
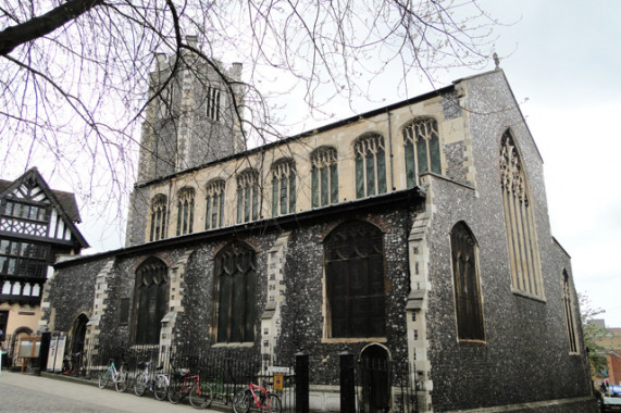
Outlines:
<svg viewBox="0 0 621 413"><path fill-rule="evenodd" d="M196 36L186 37L198 48ZM137 184L244 151L241 64L213 66L189 50L158 54L140 139ZM175 66L176 65L176 66ZM171 73L175 71L174 75ZM223 78L224 77L224 78Z"/></svg>

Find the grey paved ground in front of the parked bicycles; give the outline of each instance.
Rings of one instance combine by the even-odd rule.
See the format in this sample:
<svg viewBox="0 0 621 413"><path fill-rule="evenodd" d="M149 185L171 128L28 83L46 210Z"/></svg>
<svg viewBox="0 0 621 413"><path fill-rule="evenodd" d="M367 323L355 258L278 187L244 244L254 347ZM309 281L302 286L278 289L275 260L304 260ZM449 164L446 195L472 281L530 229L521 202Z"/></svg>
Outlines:
<svg viewBox="0 0 621 413"><path fill-rule="evenodd" d="M50 377L50 374L32 376L3 370L0 374L0 412L191 413L195 411L190 405L183 404L183 401L182 404L175 405L147 396L136 397L131 391L127 389L126 392L120 393L112 387L99 389L95 380L57 379ZM202 412L219 411L221 410L206 409Z"/></svg>

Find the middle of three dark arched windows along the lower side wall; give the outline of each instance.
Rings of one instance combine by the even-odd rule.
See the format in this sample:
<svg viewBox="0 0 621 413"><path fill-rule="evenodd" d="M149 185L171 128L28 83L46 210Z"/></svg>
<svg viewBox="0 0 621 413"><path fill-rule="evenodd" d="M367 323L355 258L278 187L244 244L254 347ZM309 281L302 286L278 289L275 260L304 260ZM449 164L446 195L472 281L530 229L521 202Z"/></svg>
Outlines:
<svg viewBox="0 0 621 413"><path fill-rule="evenodd" d="M225 247L215 258L218 280L218 342L254 341L257 256L241 242Z"/></svg>

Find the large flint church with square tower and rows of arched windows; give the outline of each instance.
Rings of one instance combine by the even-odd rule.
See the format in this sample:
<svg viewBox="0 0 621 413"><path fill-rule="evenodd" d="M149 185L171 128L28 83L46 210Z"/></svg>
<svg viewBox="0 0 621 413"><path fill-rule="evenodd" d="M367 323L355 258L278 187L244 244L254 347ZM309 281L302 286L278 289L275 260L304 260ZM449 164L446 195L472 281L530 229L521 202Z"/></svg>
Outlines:
<svg viewBox="0 0 621 413"><path fill-rule="evenodd" d="M338 411L347 348L409 365L420 412L596 411L543 158L501 70L246 149L244 89L197 65L161 88L159 59L126 245L55 264L42 329L303 350L312 410Z"/></svg>

